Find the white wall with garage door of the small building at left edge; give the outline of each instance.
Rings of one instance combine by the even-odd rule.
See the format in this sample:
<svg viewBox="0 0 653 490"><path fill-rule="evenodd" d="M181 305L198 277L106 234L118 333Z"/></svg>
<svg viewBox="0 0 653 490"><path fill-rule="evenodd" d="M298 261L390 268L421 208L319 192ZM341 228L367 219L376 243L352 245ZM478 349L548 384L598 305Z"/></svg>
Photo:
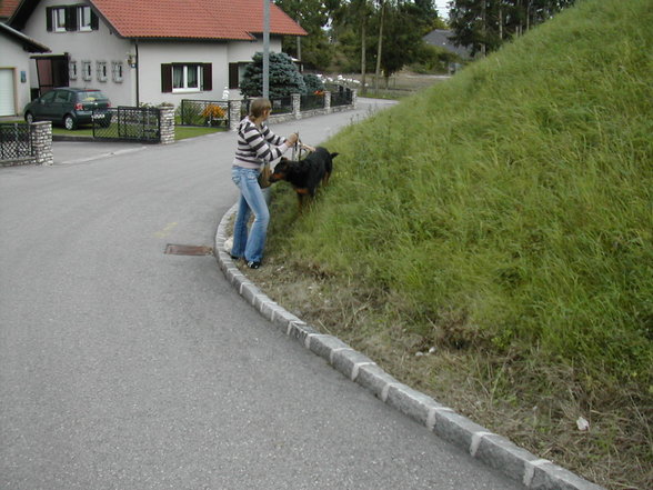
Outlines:
<svg viewBox="0 0 653 490"><path fill-rule="evenodd" d="M30 101L29 58L22 44L10 37L0 33L0 116L16 116ZM21 81L21 72L26 73L26 81Z"/></svg>

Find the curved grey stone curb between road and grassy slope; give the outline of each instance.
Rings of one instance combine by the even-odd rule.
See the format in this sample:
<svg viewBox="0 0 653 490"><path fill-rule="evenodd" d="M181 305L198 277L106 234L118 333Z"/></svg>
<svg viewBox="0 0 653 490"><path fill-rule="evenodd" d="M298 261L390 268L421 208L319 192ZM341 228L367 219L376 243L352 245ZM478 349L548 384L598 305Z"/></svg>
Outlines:
<svg viewBox="0 0 653 490"><path fill-rule="evenodd" d="M268 298L233 263L224 251L227 222L238 210L234 204L220 221L215 233L215 258L227 279L240 294L272 324L307 349L326 360L335 370L370 390L376 398L412 418L438 437L469 451L483 463L533 490L605 490L549 460L522 449L438 403L431 397L401 383L374 361L336 337L318 332Z"/></svg>

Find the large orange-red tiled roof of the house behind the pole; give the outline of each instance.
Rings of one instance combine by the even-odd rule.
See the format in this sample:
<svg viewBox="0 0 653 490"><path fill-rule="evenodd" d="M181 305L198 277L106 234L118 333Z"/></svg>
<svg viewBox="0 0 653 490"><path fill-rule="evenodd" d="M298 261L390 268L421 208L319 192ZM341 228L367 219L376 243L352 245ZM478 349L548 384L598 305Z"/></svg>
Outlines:
<svg viewBox="0 0 653 490"><path fill-rule="evenodd" d="M125 38L242 39L263 32L263 0L90 0ZM307 36L270 2L270 33Z"/></svg>

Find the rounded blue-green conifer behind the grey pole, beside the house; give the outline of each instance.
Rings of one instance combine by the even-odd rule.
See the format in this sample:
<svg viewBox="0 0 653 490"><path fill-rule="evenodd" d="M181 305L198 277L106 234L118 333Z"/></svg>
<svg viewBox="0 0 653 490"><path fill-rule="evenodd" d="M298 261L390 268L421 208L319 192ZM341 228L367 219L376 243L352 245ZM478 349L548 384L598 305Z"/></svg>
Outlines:
<svg viewBox="0 0 653 490"><path fill-rule="evenodd" d="M245 67L240 87L245 97L261 97L263 93L263 53L252 57ZM291 93L307 93L304 79L292 59L283 52L270 53L270 99L281 99Z"/></svg>

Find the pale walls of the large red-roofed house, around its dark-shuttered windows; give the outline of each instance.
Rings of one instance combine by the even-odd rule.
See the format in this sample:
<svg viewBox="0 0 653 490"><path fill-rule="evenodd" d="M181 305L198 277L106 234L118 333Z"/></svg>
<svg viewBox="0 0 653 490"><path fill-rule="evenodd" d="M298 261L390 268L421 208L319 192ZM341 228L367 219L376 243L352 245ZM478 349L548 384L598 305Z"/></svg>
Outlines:
<svg viewBox="0 0 653 490"><path fill-rule="evenodd" d="M100 19L99 29L88 32L48 32L46 9L66 4L81 4L83 0L41 0L28 20L23 33L51 48L50 54L69 53L71 61L77 61L77 80L70 80L70 87L92 87L102 90L115 106L135 106L137 92L140 103L173 103L182 99L221 100L224 88L229 86L229 63L249 62L257 51L263 50L262 39L254 41L175 41L139 40L138 68L127 63L128 53L135 54L135 41L124 39L111 31ZM88 2L86 2L88 4ZM270 50L281 51L281 38L271 37ZM92 62L91 80L83 80L81 62ZM123 79L113 80L111 72L106 81L97 74L97 61L106 61L111 67L113 61L123 63ZM212 90L164 93L161 88L161 64L163 63L211 63ZM137 77L138 71L138 77ZM30 62L31 86L38 87L36 62ZM230 98L240 98L239 90L230 91Z"/></svg>

